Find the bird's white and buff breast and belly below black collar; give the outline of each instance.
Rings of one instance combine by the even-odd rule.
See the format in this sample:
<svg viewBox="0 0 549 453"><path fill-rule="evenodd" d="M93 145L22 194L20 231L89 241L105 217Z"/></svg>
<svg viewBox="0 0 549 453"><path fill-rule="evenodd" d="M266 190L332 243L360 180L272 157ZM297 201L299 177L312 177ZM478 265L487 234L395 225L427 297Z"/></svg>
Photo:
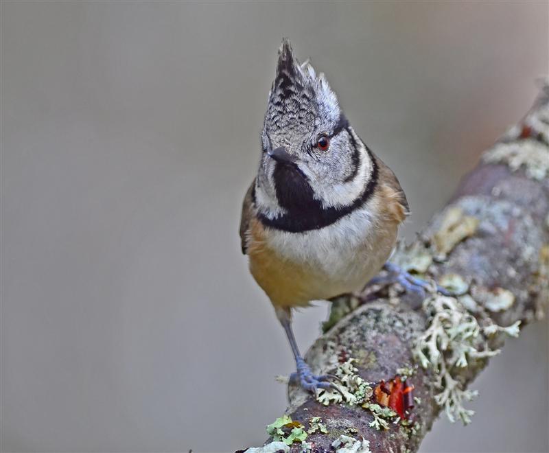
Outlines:
<svg viewBox="0 0 549 453"><path fill-rule="evenodd" d="M398 224L382 222L369 209L335 224L292 233L250 224L250 272L273 305L293 307L360 290L383 266Z"/></svg>

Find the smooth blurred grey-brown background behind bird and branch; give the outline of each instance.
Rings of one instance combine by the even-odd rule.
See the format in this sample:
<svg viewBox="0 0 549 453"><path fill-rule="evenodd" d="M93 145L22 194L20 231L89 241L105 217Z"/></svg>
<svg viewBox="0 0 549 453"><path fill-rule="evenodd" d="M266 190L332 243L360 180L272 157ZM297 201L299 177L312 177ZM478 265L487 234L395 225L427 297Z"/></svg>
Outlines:
<svg viewBox="0 0 549 453"><path fill-rule="evenodd" d="M290 36L414 236L548 73L548 3L1 3L1 449L261 445L293 371L237 235ZM327 303L296 316L305 351ZM548 328L423 452L548 452Z"/></svg>

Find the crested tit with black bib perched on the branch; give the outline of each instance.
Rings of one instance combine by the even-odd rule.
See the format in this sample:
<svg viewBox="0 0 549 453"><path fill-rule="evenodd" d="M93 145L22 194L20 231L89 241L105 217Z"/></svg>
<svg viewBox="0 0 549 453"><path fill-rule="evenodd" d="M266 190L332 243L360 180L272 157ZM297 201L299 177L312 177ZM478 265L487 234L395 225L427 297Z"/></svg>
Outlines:
<svg viewBox="0 0 549 453"><path fill-rule="evenodd" d="M355 132L325 75L283 38L240 239L288 336L290 380L306 391L333 386L333 376L314 375L301 356L292 310L362 290L384 266L405 288L425 288L387 262L408 214L397 177Z"/></svg>

